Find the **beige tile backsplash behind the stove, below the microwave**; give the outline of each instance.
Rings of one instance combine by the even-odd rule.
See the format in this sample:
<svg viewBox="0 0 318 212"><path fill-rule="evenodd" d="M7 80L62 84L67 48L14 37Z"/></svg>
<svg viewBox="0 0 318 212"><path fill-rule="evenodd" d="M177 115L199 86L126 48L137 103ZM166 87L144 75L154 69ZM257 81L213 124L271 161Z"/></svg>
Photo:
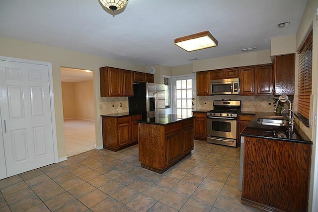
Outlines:
<svg viewBox="0 0 318 212"><path fill-rule="evenodd" d="M215 95L209 97L196 97L196 109L213 109L214 100L240 100L242 111L274 111L274 96L239 96L239 95ZM277 98L277 97L275 97ZM270 105L269 105L270 103Z"/></svg>

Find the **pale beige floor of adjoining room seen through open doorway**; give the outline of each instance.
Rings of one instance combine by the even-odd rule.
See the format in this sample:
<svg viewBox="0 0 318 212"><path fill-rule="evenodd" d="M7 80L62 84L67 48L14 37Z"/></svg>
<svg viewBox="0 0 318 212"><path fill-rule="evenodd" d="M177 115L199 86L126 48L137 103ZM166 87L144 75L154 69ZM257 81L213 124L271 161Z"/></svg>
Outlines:
<svg viewBox="0 0 318 212"><path fill-rule="evenodd" d="M64 131L66 156L70 157L96 148L93 120L65 119Z"/></svg>

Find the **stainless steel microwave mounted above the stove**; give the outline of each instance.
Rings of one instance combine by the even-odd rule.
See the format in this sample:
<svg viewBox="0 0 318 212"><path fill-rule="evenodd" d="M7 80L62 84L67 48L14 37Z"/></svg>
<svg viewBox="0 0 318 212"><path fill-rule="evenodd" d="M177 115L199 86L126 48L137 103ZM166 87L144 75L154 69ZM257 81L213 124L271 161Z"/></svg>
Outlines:
<svg viewBox="0 0 318 212"><path fill-rule="evenodd" d="M211 80L211 95L239 94L239 78Z"/></svg>

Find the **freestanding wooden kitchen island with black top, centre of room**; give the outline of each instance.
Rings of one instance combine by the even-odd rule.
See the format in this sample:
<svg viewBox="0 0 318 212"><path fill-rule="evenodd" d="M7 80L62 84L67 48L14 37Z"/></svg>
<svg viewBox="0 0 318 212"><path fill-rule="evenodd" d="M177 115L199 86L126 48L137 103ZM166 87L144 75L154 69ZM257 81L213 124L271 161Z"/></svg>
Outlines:
<svg viewBox="0 0 318 212"><path fill-rule="evenodd" d="M141 166L161 174L191 154L193 119L171 114L136 121Z"/></svg>

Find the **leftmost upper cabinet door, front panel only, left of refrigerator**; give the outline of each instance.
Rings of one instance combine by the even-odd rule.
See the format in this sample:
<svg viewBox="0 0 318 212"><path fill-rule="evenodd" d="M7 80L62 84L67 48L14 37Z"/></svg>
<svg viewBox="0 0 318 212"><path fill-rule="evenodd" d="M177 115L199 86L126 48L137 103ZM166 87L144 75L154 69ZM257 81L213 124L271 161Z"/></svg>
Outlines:
<svg viewBox="0 0 318 212"><path fill-rule="evenodd" d="M107 68L107 89L108 97L121 97L123 96L122 86L122 70L116 68Z"/></svg>

